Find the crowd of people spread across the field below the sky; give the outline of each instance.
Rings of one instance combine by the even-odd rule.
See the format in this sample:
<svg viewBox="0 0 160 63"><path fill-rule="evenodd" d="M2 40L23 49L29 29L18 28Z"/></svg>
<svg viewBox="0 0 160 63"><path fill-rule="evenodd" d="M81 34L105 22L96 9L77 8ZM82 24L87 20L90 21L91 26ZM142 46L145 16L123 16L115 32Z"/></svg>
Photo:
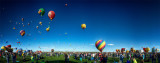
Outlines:
<svg viewBox="0 0 160 63"><path fill-rule="evenodd" d="M157 63L156 61L160 62L160 53L133 53L133 52L129 52L129 53L117 53L117 52L95 52L95 53L91 53L91 52L48 52L48 53L40 53L40 52L18 52L18 53L13 53L13 52L0 52L0 57L5 58L7 63L10 62L10 58L12 59L13 63L16 63L16 59L17 56L20 56L23 58L22 61L26 61L26 56L30 56L30 60L32 61L32 63L37 62L40 59L43 59L44 56L55 56L55 57L59 57L63 55L65 58L65 63L70 63L69 58L74 58L75 60L79 60L80 62L83 63L87 63L84 62L83 60L88 60L88 61L93 61L93 63L107 63L107 61L109 60L108 58L112 58L113 62L112 63L145 63L145 62L152 62L152 63ZM115 60L114 58L118 58L119 60ZM127 59L127 62L124 62L124 58ZM138 61L137 61L138 60ZM47 61L42 61L41 63L47 63ZM110 61L108 61L108 63L110 63Z"/></svg>

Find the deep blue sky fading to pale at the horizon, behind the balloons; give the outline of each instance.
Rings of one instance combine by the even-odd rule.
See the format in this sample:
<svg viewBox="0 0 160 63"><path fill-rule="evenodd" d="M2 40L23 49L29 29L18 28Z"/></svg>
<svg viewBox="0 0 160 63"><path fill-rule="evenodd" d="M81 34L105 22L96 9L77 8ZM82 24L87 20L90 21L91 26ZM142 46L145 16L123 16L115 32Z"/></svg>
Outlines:
<svg viewBox="0 0 160 63"><path fill-rule="evenodd" d="M104 52L130 47L159 48L159 4L152 0L1 0L0 46L11 44L42 51L52 48L55 51L98 51L95 42L104 40L106 44L114 44L106 45ZM40 8L45 9L42 17L38 14ZM56 14L53 21L48 18L50 10ZM21 18L24 18L24 27L19 24ZM83 23L87 25L85 30L81 29ZM48 26L51 27L49 32L45 31ZM20 30L26 31L25 36L20 36Z"/></svg>

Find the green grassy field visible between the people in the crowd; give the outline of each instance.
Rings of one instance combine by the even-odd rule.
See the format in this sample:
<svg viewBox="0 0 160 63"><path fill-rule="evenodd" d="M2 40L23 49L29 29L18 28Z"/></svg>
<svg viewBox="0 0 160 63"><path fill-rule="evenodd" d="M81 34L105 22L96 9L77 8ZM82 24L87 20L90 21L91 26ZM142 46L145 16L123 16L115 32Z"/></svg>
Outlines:
<svg viewBox="0 0 160 63"><path fill-rule="evenodd" d="M65 58L63 55L61 55L59 57L57 57L57 56L44 56L44 59L38 60L38 63L41 63L43 61L46 63L65 63L64 60L65 60ZM31 63L30 56L26 57L26 61L23 61L22 57L17 56L17 61L19 61L19 63ZM73 56L70 57L69 61L70 61L69 63L81 63L80 60L75 60ZM113 63L114 61L118 62L119 58L109 57L107 63ZM92 63L94 61L91 61L88 59L83 59L82 62ZM124 58L124 63L126 63L126 62L127 62L127 58ZM139 59L137 59L137 62L139 63ZM6 59L1 57L0 63L6 63ZM10 59L10 63L12 63L11 59ZM36 63L36 61L34 63ZM150 62L145 62L145 63L151 63L151 60L150 60Z"/></svg>

